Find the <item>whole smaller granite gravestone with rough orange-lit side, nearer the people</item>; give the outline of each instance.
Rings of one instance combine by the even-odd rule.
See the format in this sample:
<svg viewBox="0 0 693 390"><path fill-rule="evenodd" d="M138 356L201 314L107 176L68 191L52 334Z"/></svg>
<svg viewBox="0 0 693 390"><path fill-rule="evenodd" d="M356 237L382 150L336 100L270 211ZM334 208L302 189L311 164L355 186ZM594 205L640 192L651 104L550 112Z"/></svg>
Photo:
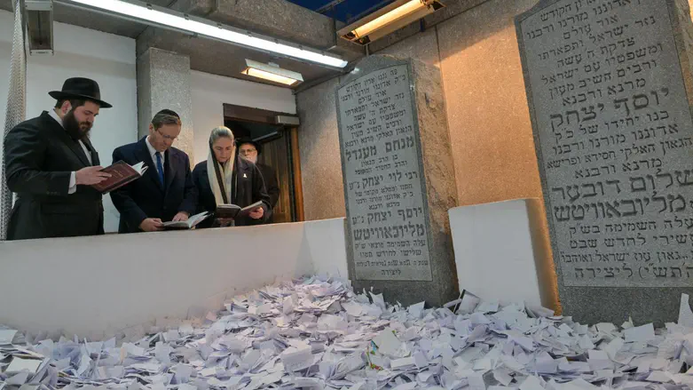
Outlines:
<svg viewBox="0 0 693 390"><path fill-rule="evenodd" d="M350 279L405 305L457 298L440 80L422 62L371 56L336 90Z"/></svg>

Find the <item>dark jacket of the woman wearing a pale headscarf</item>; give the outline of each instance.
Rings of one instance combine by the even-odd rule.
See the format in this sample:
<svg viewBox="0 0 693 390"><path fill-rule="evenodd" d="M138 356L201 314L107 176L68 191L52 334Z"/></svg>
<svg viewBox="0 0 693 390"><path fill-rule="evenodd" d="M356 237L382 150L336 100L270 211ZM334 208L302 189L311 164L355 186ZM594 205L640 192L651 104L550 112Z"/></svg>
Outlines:
<svg viewBox="0 0 693 390"><path fill-rule="evenodd" d="M193 180L195 187L200 194L197 212L217 210L217 200L212 193L207 174L207 161L195 165L193 170ZM270 207L270 195L264 187L264 179L256 164L249 163L242 158L237 158L233 164L233 171L236 173L236 189L231 197L231 203L240 207L246 207L258 201L263 201L264 216L262 219L236 219L236 226L259 225L272 217L272 207ZM211 227L214 218L205 219L198 227Z"/></svg>

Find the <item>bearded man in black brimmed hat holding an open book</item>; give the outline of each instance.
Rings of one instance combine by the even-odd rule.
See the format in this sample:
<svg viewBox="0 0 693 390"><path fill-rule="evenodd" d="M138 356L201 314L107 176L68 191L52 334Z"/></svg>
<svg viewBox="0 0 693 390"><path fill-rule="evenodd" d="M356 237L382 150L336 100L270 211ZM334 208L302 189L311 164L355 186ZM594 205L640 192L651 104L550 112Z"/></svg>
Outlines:
<svg viewBox="0 0 693 390"><path fill-rule="evenodd" d="M89 132L99 108L112 106L87 78L67 79L49 94L55 107L4 139L5 179L18 195L8 240L104 234L101 193L91 185L110 175L101 172Z"/></svg>

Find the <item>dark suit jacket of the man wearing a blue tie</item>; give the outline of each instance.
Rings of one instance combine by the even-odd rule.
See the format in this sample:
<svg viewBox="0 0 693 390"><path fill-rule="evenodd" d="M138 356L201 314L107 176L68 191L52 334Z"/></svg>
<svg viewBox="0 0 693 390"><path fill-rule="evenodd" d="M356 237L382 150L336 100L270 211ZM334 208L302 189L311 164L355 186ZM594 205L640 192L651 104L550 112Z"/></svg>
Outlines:
<svg viewBox="0 0 693 390"><path fill-rule="evenodd" d="M145 139L118 147L113 152L114 163L124 161L134 165L143 161L148 167L143 177L111 193L115 208L121 213L119 233L140 232L139 225L147 218L167 222L179 211L187 211L190 215L195 213L197 190L193 184L188 155L169 147L165 152L163 167L165 184L161 185Z"/></svg>

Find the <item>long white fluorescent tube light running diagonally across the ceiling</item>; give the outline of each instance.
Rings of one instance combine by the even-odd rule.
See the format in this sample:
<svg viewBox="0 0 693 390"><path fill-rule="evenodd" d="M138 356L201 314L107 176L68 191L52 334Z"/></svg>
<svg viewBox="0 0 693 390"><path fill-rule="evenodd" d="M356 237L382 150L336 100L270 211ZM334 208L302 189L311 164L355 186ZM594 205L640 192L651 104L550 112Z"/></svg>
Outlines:
<svg viewBox="0 0 693 390"><path fill-rule="evenodd" d="M179 12L155 7L154 5L136 0L67 0L67 2L83 4L97 10L114 12L132 19L146 20L161 26L184 30L201 36L209 36L221 41L240 44L265 52L279 53L300 60L316 62L329 67L344 68L348 64L347 61L341 58L329 56L321 52L306 50L303 49L303 47L291 44L283 44L272 38L250 35L241 30L232 29L189 15L180 14L182 16L179 16L177 14Z"/></svg>

